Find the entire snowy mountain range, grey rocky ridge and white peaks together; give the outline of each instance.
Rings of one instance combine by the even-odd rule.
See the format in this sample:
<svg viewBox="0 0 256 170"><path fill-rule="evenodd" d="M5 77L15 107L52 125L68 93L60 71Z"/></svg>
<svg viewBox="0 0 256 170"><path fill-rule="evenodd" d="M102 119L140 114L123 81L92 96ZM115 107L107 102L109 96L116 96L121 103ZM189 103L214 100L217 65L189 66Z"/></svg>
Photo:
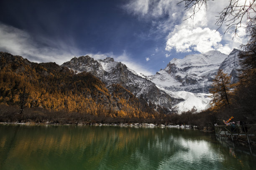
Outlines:
<svg viewBox="0 0 256 170"><path fill-rule="evenodd" d="M212 50L187 55L183 59L174 58L164 70L147 77L138 75L110 57L105 60L94 60L89 56L74 57L63 66L77 72L90 72L107 87L120 84L148 103L169 109L176 107L179 112L191 110L194 106L201 111L210 107L209 88L219 68L231 75L233 82L238 80L239 52L234 49L230 55L225 55Z"/></svg>

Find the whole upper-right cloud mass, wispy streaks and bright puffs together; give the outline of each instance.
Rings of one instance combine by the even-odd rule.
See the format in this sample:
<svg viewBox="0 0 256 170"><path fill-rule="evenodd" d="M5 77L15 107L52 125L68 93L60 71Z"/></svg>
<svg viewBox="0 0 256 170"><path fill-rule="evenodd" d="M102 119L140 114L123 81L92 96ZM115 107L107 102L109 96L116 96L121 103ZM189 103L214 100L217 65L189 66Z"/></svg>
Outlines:
<svg viewBox="0 0 256 170"><path fill-rule="evenodd" d="M246 43L245 30L238 32L239 37L233 38L233 33L224 34L225 27L218 31L216 15L228 1L208 1L207 10L204 6L195 15L194 20L187 19L192 14L192 9L184 10L184 4L177 5L181 0L131 0L125 9L139 19L152 20L151 30L169 32L166 37L166 51L172 49L176 52L190 52L192 50L207 52L219 50L228 54L233 48L239 48L241 43ZM145 2L142 4L142 2ZM187 20L185 20L187 19ZM160 33L161 34L161 33Z"/></svg>

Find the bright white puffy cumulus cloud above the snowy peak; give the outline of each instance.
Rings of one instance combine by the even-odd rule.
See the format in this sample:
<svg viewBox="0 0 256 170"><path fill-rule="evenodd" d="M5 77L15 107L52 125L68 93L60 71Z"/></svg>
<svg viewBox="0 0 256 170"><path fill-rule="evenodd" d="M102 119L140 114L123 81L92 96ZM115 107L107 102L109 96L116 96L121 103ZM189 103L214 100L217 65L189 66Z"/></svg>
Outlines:
<svg viewBox="0 0 256 170"><path fill-rule="evenodd" d="M220 2L223 5L223 2ZM233 48L240 48L241 43L246 43L245 29L240 28L238 31L239 37L234 37L233 34L227 32L223 34L222 29L216 31L212 28L217 28L215 23L216 6L219 9L219 3L208 3L208 9L202 7L195 14L194 20L187 19L180 25L176 25L174 30L169 33L166 42L166 50L175 49L176 52L191 52L192 50L199 52L207 52L209 50L219 50L225 54L229 54ZM212 11L215 10L215 11ZM187 11L184 18L188 18L192 11ZM193 27L192 27L193 26Z"/></svg>

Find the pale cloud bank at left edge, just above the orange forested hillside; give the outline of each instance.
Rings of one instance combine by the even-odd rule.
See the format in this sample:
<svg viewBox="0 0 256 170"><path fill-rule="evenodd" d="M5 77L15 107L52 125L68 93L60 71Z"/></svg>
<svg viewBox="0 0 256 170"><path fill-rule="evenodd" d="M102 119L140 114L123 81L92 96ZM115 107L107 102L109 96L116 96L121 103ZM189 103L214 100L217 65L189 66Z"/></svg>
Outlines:
<svg viewBox="0 0 256 170"><path fill-rule="evenodd" d="M46 39L44 42L54 43ZM56 62L57 64L62 64L74 55L79 55L79 50L61 42L58 43L57 47L42 47L27 32L0 23L0 51L21 55L33 62Z"/></svg>

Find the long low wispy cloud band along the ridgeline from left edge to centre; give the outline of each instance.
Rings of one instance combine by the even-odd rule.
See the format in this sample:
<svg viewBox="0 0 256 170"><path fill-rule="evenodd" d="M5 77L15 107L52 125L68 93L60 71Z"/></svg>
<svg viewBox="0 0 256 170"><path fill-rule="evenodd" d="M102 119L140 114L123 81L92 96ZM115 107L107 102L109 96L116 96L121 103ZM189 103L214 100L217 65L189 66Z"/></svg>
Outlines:
<svg viewBox="0 0 256 170"><path fill-rule="evenodd" d="M0 23L0 51L9 52L13 55L21 55L33 62L56 62L59 65L69 61L74 56L84 55L84 52L81 50L63 42L58 41L56 42L58 44L55 44L55 42L47 39L44 39L44 42L49 45L42 46L40 45L42 42L39 44L27 32ZM123 52L122 55L114 55L113 52L87 53L86 55L90 55L95 60L113 57L115 61L124 63L127 67L138 73L152 75L152 72L137 62L133 62L126 52Z"/></svg>

